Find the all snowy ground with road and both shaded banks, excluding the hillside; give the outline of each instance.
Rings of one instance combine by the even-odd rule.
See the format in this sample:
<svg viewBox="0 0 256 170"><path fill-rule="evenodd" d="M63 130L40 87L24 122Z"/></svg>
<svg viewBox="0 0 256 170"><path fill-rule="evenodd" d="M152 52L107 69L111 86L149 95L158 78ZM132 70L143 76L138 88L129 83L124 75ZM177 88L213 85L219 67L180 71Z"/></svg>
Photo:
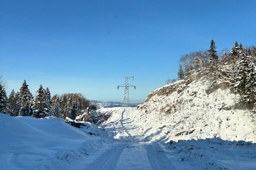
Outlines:
<svg viewBox="0 0 256 170"><path fill-rule="evenodd" d="M256 144L220 138L166 141L148 138L135 108L104 108L102 128L77 129L55 117L0 114L3 169L255 169ZM151 122L151 126L158 121ZM153 128L151 128L153 129ZM98 131L98 137L89 135ZM168 134L167 134L168 136ZM167 138L167 137L165 137Z"/></svg>

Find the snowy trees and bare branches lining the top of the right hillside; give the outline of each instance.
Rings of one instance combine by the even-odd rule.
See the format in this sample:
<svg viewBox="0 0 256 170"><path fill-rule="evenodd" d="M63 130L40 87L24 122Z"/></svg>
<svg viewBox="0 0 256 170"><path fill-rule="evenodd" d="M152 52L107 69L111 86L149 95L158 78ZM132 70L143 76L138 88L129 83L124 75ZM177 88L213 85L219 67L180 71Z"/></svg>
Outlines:
<svg viewBox="0 0 256 170"><path fill-rule="evenodd" d="M213 80L228 84L256 113L256 47L243 47L236 41L230 52L224 50L219 57L214 40L208 50L185 54L180 58L178 79L195 74L208 75Z"/></svg>

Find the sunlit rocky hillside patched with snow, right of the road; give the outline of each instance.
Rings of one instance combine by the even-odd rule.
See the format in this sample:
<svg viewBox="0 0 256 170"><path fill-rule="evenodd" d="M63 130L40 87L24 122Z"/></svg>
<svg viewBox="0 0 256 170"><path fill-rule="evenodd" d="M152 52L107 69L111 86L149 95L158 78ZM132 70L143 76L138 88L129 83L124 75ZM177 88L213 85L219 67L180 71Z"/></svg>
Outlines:
<svg viewBox="0 0 256 170"><path fill-rule="evenodd" d="M239 101L227 84L207 76L179 80L152 91L138 105L134 126L145 142L216 137L256 142L256 115Z"/></svg>

